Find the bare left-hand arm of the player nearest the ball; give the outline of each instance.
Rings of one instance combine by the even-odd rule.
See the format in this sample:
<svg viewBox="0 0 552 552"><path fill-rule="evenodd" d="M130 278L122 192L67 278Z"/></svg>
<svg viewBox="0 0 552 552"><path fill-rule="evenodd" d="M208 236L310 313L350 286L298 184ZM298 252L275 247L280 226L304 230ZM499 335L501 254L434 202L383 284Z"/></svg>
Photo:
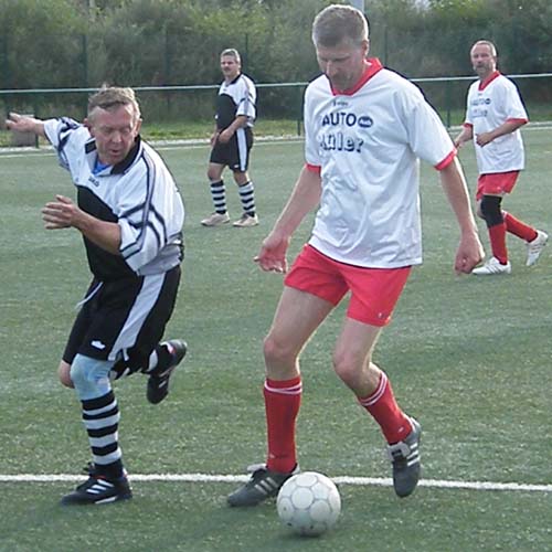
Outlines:
<svg viewBox="0 0 552 552"><path fill-rule="evenodd" d="M320 174L304 167L286 206L254 259L263 270L287 272L286 252L291 235L307 213L318 205L320 194Z"/></svg>

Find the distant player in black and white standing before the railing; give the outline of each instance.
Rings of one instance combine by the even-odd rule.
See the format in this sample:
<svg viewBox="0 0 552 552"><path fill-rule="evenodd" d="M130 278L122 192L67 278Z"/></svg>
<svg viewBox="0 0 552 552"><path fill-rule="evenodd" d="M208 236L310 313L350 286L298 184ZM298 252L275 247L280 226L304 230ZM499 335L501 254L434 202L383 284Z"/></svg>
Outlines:
<svg viewBox="0 0 552 552"><path fill-rule="evenodd" d="M224 81L216 98L215 128L211 137L212 149L208 168L214 212L201 221L203 226L220 226L230 222L226 188L222 178L225 167L234 174L243 208L242 216L233 225L250 227L258 224L255 187L247 172L253 148L257 93L253 81L241 70L242 62L237 50L224 50L221 53Z"/></svg>

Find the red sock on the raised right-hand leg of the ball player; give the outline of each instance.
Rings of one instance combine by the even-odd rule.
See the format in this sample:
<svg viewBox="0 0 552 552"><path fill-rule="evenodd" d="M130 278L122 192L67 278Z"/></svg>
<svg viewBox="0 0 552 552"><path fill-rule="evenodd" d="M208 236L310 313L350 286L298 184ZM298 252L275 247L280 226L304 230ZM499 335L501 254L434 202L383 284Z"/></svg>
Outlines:
<svg viewBox="0 0 552 552"><path fill-rule="evenodd" d="M359 402L380 424L389 444L403 440L411 433L412 424L396 404L391 383L384 372L381 373L378 389L364 399L359 397Z"/></svg>

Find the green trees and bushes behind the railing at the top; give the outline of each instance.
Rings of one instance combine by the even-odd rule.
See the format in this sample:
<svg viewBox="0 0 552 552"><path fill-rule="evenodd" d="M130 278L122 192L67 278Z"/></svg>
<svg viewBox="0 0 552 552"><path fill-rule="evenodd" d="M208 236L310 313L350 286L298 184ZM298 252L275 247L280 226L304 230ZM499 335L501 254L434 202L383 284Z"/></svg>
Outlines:
<svg viewBox="0 0 552 552"><path fill-rule="evenodd" d="M225 47L242 53L257 83L307 82L318 73L310 26L329 3L0 0L0 89L214 84ZM372 54L411 78L470 75L469 46L481 38L497 44L505 73L552 66L549 0L364 4Z"/></svg>

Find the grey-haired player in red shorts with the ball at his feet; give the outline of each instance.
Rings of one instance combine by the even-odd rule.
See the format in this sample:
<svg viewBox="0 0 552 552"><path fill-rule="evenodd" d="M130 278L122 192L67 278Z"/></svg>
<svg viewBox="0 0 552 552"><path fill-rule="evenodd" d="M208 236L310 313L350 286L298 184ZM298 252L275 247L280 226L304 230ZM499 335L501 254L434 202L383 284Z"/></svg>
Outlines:
<svg viewBox="0 0 552 552"><path fill-rule="evenodd" d="M256 258L264 270L287 270L291 234L319 209L312 236L285 278L264 343L267 460L229 497L231 506L275 496L298 470L299 354L347 293L333 369L381 426L396 495L411 495L421 473L421 425L400 408L372 352L411 267L422 262L418 158L440 171L458 220L456 270L469 273L482 256L454 145L414 85L367 59L363 14L330 6L315 19L312 40L323 75L305 95L306 164Z"/></svg>

